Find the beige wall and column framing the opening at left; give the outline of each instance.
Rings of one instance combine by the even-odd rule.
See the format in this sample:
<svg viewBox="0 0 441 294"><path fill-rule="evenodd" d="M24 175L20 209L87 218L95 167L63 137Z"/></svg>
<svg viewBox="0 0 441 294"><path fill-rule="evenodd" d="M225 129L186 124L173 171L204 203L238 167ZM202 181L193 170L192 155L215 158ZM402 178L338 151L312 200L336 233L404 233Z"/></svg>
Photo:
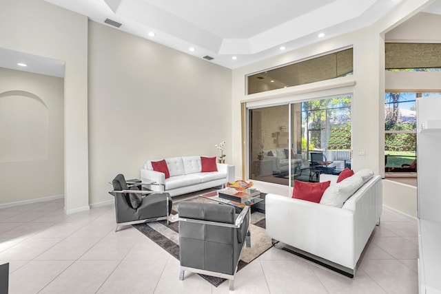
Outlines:
<svg viewBox="0 0 441 294"><path fill-rule="evenodd" d="M0 47L65 61L65 211L88 209L88 18L43 0L2 0L0 28Z"/></svg>

